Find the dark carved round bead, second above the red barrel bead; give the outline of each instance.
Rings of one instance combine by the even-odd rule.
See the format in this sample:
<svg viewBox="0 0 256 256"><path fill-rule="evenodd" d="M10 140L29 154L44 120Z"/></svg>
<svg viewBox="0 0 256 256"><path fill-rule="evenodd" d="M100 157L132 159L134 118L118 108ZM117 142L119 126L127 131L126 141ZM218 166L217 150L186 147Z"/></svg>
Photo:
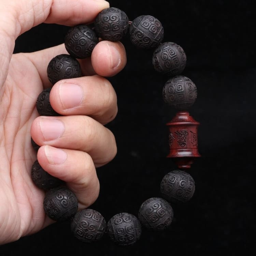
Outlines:
<svg viewBox="0 0 256 256"><path fill-rule="evenodd" d="M181 74L185 69L186 61L187 57L182 47L172 42L160 44L152 58L155 70L167 76Z"/></svg>

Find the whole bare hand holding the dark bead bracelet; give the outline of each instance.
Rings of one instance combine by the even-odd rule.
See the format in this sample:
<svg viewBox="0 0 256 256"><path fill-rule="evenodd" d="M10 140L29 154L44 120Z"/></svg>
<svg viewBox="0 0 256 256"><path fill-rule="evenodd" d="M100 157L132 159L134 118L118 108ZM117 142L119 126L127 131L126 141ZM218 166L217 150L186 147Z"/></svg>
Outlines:
<svg viewBox="0 0 256 256"><path fill-rule="evenodd" d="M79 210L99 195L97 167L117 152L104 125L117 114L117 98L107 77L126 65L120 42L100 41L90 58L79 60L84 76L53 85L50 103L58 117L39 116L35 103L52 85L47 65L58 45L34 53L13 54L16 38L41 23L75 26L92 23L109 7L104 0L1 0L0 2L0 244L33 234L53 223L45 215L45 192L31 179L38 159L42 168L66 181ZM32 148L31 137L41 147Z"/></svg>

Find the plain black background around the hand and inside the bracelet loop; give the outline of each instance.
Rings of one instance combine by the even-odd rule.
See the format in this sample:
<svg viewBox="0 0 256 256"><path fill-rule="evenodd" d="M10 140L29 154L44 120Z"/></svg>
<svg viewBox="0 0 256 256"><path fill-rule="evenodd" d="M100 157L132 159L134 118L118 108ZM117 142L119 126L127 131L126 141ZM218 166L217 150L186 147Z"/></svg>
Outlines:
<svg viewBox="0 0 256 256"><path fill-rule="evenodd" d="M189 173L193 198L173 204L174 219L163 232L142 230L133 246L108 237L84 244L71 236L69 223L56 223L19 241L2 245L0 255L254 255L255 244L255 16L252 1L110 1L129 19L155 16L163 41L179 44L187 55L183 75L197 86L189 109L200 122L201 158ZM16 52L32 52L63 43L68 27L39 25L21 35ZM106 221L119 212L137 215L141 203L160 196L162 177L176 169L168 154L166 123L175 110L163 103L166 78L152 66L151 50L128 39L127 65L110 77L119 112L107 125L118 153L97 170L101 190L91 208ZM252 232L252 234L250 233Z"/></svg>

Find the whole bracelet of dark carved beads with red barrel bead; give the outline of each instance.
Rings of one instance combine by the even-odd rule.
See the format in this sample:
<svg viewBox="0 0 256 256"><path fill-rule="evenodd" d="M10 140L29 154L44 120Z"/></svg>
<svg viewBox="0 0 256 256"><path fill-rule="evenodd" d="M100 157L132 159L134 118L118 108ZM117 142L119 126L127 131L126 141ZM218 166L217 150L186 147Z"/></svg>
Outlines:
<svg viewBox="0 0 256 256"><path fill-rule="evenodd" d="M162 42L163 27L157 18L141 15L130 22L125 12L111 7L97 15L93 28L85 24L71 27L65 36L65 47L69 54L60 54L49 62L49 81L54 85L62 79L81 77L77 59L90 57L99 38L114 42L127 35L136 48L154 49L154 69L168 77L162 89L163 100L178 111L167 123L170 148L167 157L173 159L178 169L163 177L160 184L162 198L145 200L139 208L138 216L122 212L106 222L96 210L83 209L78 212L75 194L65 187L65 182L43 170L36 160L31 177L34 184L46 192L43 202L46 215L58 222L70 220L71 232L83 242L99 241L106 233L118 245L132 245L140 239L142 226L149 230L165 230L173 219L171 203L187 202L195 191L195 182L185 170L200 157L197 141L199 123L187 112L197 98L197 88L188 77L180 75L186 66L186 54L181 46L173 42ZM59 116L49 102L50 91L51 88L44 89L38 96L38 113ZM38 151L39 145L32 138L31 143L34 150Z"/></svg>

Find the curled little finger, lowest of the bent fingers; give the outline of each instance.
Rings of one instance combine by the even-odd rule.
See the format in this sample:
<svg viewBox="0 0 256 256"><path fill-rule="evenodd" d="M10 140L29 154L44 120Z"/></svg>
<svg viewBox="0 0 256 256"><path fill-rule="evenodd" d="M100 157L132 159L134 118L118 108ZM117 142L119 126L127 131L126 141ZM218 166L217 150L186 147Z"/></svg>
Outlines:
<svg viewBox="0 0 256 256"><path fill-rule="evenodd" d="M42 146L38 161L45 171L66 182L79 201L79 210L95 202L100 185L93 160L87 153Z"/></svg>

